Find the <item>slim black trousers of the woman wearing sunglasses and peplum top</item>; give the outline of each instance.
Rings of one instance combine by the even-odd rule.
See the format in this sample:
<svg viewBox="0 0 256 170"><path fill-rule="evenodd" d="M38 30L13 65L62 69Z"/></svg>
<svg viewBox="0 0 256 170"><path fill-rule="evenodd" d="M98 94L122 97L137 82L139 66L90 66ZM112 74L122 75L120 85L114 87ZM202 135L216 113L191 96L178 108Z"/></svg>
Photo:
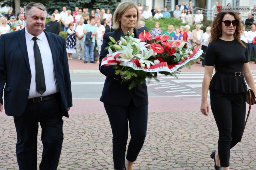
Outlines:
<svg viewBox="0 0 256 170"><path fill-rule="evenodd" d="M220 165L229 166L230 149L243 136L246 103L244 93L225 94L210 89L211 109L219 130L218 153Z"/></svg>

